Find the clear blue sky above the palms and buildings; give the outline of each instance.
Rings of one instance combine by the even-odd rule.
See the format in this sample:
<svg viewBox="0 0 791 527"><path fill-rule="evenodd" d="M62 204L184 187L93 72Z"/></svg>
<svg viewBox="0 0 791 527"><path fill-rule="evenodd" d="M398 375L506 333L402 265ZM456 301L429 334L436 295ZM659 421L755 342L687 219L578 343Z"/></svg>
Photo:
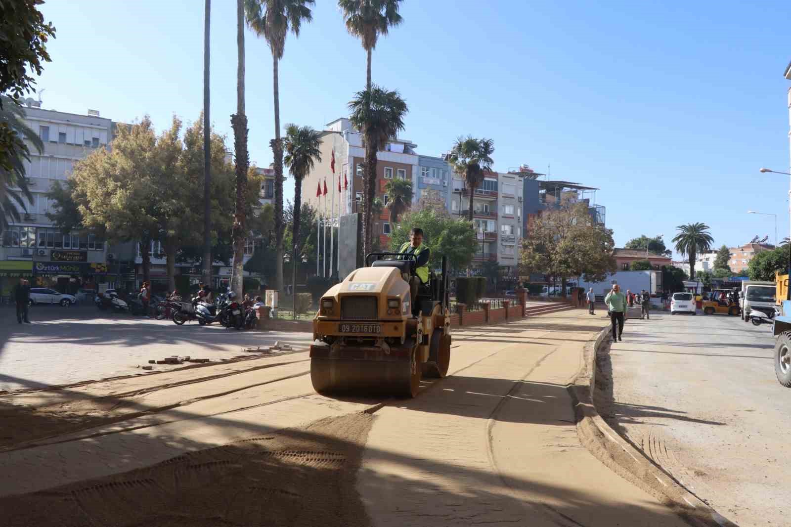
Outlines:
<svg viewBox="0 0 791 527"><path fill-rule="evenodd" d="M236 2L214 0L211 119L233 144ZM600 188L617 245L706 222L715 244L789 232L788 2L405 0L380 39L373 80L409 104L403 137L441 154L458 135L494 138L495 169L528 163ZM686 4L686 5L684 5ZM63 2L39 79L44 108L161 129L202 108L203 2ZM280 65L282 123L343 116L365 84L365 52L333 0L290 35ZM271 55L246 32L252 161L271 162ZM286 184L286 198L293 185Z"/></svg>

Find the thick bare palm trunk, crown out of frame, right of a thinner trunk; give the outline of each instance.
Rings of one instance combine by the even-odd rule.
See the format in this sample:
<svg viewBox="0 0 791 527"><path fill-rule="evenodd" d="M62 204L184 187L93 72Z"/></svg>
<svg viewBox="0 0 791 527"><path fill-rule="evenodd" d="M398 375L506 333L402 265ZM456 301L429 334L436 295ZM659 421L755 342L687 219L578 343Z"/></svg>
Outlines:
<svg viewBox="0 0 791 527"><path fill-rule="evenodd" d="M247 148L247 116L244 115L244 0L237 0L237 112L231 116L233 149L237 157L237 207L233 214L233 290L242 298L244 273L244 240L247 237L244 218L244 192L247 190L249 154Z"/></svg>

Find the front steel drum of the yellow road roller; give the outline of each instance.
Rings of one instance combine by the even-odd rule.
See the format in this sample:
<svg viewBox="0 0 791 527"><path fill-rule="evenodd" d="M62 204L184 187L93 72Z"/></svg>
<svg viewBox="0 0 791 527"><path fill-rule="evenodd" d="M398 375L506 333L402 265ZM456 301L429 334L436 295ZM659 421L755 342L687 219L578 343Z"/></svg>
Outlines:
<svg viewBox="0 0 791 527"><path fill-rule="evenodd" d="M420 389L421 368L411 359L373 361L353 358L310 359L310 380L321 394L414 397Z"/></svg>

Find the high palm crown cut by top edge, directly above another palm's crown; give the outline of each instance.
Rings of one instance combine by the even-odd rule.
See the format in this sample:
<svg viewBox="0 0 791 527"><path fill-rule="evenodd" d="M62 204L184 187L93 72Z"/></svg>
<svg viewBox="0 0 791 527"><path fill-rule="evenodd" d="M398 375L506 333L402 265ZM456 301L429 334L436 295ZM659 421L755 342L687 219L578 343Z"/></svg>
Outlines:
<svg viewBox="0 0 791 527"><path fill-rule="evenodd" d="M361 40L368 55L365 70L365 89L368 91L371 91L371 51L377 47L380 35L387 35L389 28L403 21L398 13L399 2L401 0L338 0L346 30Z"/></svg>

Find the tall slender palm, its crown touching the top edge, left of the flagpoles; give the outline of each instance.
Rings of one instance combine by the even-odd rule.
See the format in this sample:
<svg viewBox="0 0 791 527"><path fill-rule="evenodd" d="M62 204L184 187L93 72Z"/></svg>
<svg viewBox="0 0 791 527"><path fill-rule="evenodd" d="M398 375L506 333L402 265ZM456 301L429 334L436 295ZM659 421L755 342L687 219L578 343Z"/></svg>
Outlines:
<svg viewBox="0 0 791 527"><path fill-rule="evenodd" d="M308 6L315 0L244 0L248 24L258 36L263 36L272 52L272 82L274 85L274 139L270 142L274 157L274 237L278 262L283 261L283 145L280 139L280 87L278 65L286 49L289 30L299 36L302 22L312 21ZM275 272L275 288L282 290L283 266Z"/></svg>

